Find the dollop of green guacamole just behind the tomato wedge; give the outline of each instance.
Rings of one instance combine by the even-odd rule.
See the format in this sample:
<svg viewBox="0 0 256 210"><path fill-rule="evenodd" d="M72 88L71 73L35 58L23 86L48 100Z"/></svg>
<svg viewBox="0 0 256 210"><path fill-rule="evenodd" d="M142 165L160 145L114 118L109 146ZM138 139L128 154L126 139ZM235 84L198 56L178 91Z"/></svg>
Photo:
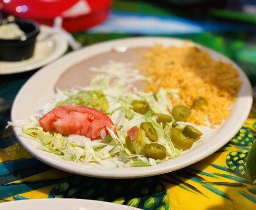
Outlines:
<svg viewBox="0 0 256 210"><path fill-rule="evenodd" d="M59 101L56 107L63 105L87 106L104 112L109 109L109 102L102 90L80 91L76 95L68 97L66 100Z"/></svg>

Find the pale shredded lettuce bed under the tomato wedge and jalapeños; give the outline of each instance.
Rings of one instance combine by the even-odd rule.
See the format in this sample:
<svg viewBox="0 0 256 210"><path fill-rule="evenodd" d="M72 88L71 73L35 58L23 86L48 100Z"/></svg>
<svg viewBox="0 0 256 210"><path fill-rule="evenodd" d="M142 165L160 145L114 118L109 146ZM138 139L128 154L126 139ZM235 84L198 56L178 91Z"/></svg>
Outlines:
<svg viewBox="0 0 256 210"><path fill-rule="evenodd" d="M110 69L108 65L112 68ZM107 167L141 167L155 166L160 163L160 160L146 158L143 146L152 142L146 137L143 130L138 133L134 142L130 142L133 149L129 149L126 142L127 131L134 126L140 128L142 122L149 122L158 135L158 140L155 143L164 145L166 149L166 158L161 162L179 156L182 151L174 147L170 138L172 122L166 123L163 128L162 124L156 122L155 116L155 113L171 116L170 110L173 105L170 97L180 101L180 104L183 103L178 95L179 90L160 88L157 93L153 94L139 91L132 85L124 85L126 82L132 84L134 81L145 79L143 76L138 76L137 70L131 70L130 64L122 65L110 62L104 67L93 68L92 71L105 72L106 69L109 73L94 77L90 86L65 91L57 90L55 98L47 102L38 114L26 122L9 122L8 126L17 127L22 137L40 143L38 149L59 155L63 160L89 165L100 164ZM121 69L125 69L124 74L120 74ZM113 81L112 85L110 85L110 81ZM88 98L93 98L94 101L90 101L89 104L89 102L87 103ZM57 106L73 104L78 99L79 104L84 103L87 106L101 108L111 118L115 128L106 128L109 134L104 135L103 139L94 141L76 134L62 135L43 131L38 123L38 117L55 108L56 104ZM133 100L147 101L151 109L144 115L136 113L131 106ZM103 107L102 101L104 102ZM184 124L178 125L179 128L184 126Z"/></svg>

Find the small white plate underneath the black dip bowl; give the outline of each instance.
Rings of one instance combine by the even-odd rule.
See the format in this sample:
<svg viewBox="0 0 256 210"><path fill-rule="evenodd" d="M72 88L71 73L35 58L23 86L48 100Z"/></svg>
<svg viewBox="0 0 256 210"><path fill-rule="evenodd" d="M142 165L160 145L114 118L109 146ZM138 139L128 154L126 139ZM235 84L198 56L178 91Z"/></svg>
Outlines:
<svg viewBox="0 0 256 210"><path fill-rule="evenodd" d="M37 69L62 56L68 47L67 40L60 33L55 33L52 36L47 36L47 39L42 39L51 33L54 33L51 27L41 25L34 55L27 60L17 62L0 61L0 75L16 74Z"/></svg>

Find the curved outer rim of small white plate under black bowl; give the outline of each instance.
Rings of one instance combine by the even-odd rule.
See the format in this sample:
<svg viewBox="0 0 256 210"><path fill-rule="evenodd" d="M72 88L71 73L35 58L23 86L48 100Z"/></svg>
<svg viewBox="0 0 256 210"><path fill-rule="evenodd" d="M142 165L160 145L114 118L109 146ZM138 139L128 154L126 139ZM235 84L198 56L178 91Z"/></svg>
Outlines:
<svg viewBox="0 0 256 210"><path fill-rule="evenodd" d="M50 26L40 25L40 30L53 31L54 29ZM58 51L56 51L54 56L48 57L48 59L45 59L44 62L34 62L32 64L29 64L28 66L24 66L24 68L22 68L22 67L11 67L8 69L3 68L2 70L0 70L0 75L13 75L13 74L18 74L18 73L22 73L22 72L32 71L32 70L41 68L45 65L48 65L51 62L55 61L56 59L60 58L67 50L68 42L67 42L66 38L63 35L61 35L60 33L56 33L56 35L58 37L61 37L61 39L58 39L58 41L57 41L58 47L60 47L60 49L58 49ZM0 60L0 62L1 62L1 60ZM8 72L8 71L11 71L11 72Z"/></svg>

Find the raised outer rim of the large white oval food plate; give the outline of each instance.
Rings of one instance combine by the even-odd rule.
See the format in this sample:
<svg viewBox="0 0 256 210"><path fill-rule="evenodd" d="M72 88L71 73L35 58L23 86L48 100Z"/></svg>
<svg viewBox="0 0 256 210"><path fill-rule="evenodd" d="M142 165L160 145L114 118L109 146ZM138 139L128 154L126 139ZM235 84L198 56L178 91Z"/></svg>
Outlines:
<svg viewBox="0 0 256 210"><path fill-rule="evenodd" d="M85 50L85 49L90 49L90 48L93 48L93 47L99 47L101 45L107 45L107 44L115 44L115 43L121 43L123 40L125 41L134 41L134 40L137 40L137 41L140 41L141 39L148 39L148 40L154 40L154 42L157 42L158 41L179 41L180 43L183 43L184 39L177 39L177 38L167 38L167 37L132 37L132 38L121 38L121 39L115 39L115 40L109 40L109 41L104 41L104 42L101 42L101 43L96 43L96 44L93 44L93 45L89 45L87 47L84 47L82 49L79 49L79 50L76 50L76 51L73 51L71 53L68 53L66 54L65 56L63 56L62 58L56 60L55 62L53 62L52 64L50 65L47 65L45 66L44 68L40 69L39 71L37 71L31 78L29 78L25 84L23 85L23 87L19 90L19 92L17 93L16 97L15 97L15 100L14 100L14 103L13 103L13 107L12 107L12 111L11 111L11 119L12 121L14 121L14 108L17 103L17 100L18 98L21 97L22 95L22 91L24 89L26 89L26 86L29 86L29 81L33 81L33 78L36 78L37 75L40 75L40 74L43 74L44 71L47 71L48 68L51 68L52 65L54 65L56 62L60 62L60 60L62 59L66 59L67 57L71 57L72 55L78 55L80 54L81 51ZM237 133L239 131L239 129L242 127L244 121L248 118L248 115L250 113L250 110L251 110L251 106L252 106L252 87L251 87L251 84L250 84L250 81L248 79L248 77L245 75L245 73L243 72L243 70L237 65L235 64L234 61L232 61L231 59L229 59L228 57L210 49L210 48L207 48L207 47L204 47L198 43L194 43L193 44L197 45L197 46L200 46L202 47L203 49L206 49L206 50L209 50L210 52L220 56L222 59L225 59L229 62L231 62L235 68L238 70L239 72L239 75L240 75L240 78L242 77L243 78L243 82L244 84L243 85L246 85L248 86L248 88L250 89L249 92L248 92L248 97L247 97L247 109L243 111L242 113L242 118L241 120L239 121L238 124L236 124L235 128L233 128L232 132L231 133L228 133L227 135L225 135L225 140L222 140L222 141L218 141L216 143L215 146L212 146L209 150L207 150L207 152L205 151L202 151L204 152L204 154L202 155L198 155L196 156L196 158L193 158L192 160L187 160L187 161L183 161L183 163L179 163L179 164L174 164L174 165L171 165L169 167L164 167L163 169L158 168L158 169L155 169L157 168L157 166L149 166L147 168L151 168L152 170L149 170L147 172L145 172L146 170L142 170L142 172L133 172L132 174L129 174L129 169L131 171L131 169L133 170L134 168L123 168L123 169L120 169L123 170L122 173L115 173L113 174L113 172L111 171L111 168L107 168L107 167L104 167L104 172L106 171L109 171L107 169L110 169L110 171L107 173L107 174L102 174L102 170L99 170L99 167L96 167L98 170L95 170L95 169L92 169L92 167L95 167L95 166L90 166L90 170L86 167L84 168L81 168L79 166L77 166L76 164L79 164L79 163L74 163L72 165L72 167L70 167L70 165L66 164L65 162L61 162L60 161L55 161L51 158L49 158L48 156L46 155L38 155L37 154L37 150L36 148L34 148L34 146L32 145L29 145L29 143L26 143L25 140L23 140L21 137L18 136L18 133L16 132L16 130L14 129L15 131L15 136L16 138L18 139L19 143L22 144L22 146L24 146L24 148L29 152L31 153L33 156L35 156L35 158L37 158L38 160L48 164L48 165L51 165L57 169L60 169L60 170L63 170L63 171L67 171L67 172L70 172L70 173L75 173L75 174L80 174L80 175L85 175L85 176L92 176L92 177L101 177L101 178L135 178L135 177L146 177L146 176L153 176L153 175L159 175L159 174L164 174L164 173L168 173L168 172L171 172L171 171L175 171L175 170L179 170L179 169L182 169L183 167L186 167L188 165L191 165L191 164L194 164L196 162L199 162L205 158L207 158L208 156L210 156L211 154L213 154L214 152L218 151L223 145L225 145L226 143L228 143L230 141L230 139L235 135L235 133ZM124 44L125 45L125 44ZM168 45L168 44L167 44ZM170 45L170 44L169 44ZM130 46L131 47L131 46ZM93 55L92 55L93 56ZM78 61L79 62L79 61ZM64 72L64 71L63 71ZM242 87L243 87L242 85ZM229 119L229 118L228 118ZM216 134L217 135L217 134ZM214 138L214 137L212 137ZM199 147L200 148L200 147ZM197 148L197 149L199 149ZM194 150L195 151L195 150ZM191 151L192 153L193 151ZM192 153L193 154L193 153ZM185 155L185 154L184 154ZM174 160L174 159L172 159ZM170 161L170 160L169 160ZM167 161L166 161L167 162ZM81 164L80 164L81 165ZM159 165L158 165L159 166ZM144 168L145 167L135 167L136 169L141 169L141 168ZM154 170L155 169L155 170ZM144 172L143 172L144 171Z"/></svg>

